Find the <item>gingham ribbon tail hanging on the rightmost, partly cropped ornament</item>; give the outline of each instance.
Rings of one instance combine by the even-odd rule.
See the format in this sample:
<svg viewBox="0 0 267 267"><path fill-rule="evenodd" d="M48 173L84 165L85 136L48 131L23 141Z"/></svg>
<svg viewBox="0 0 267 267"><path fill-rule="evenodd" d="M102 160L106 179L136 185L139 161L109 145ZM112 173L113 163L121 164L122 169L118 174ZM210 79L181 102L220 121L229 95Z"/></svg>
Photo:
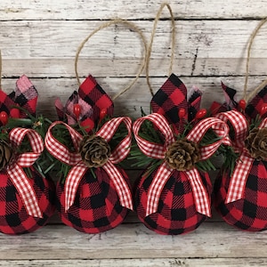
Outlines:
<svg viewBox="0 0 267 267"><path fill-rule="evenodd" d="M238 159L237 166L231 176L231 182L225 199L225 204L243 198L247 176L253 165L254 158L247 157L243 152Z"/></svg>

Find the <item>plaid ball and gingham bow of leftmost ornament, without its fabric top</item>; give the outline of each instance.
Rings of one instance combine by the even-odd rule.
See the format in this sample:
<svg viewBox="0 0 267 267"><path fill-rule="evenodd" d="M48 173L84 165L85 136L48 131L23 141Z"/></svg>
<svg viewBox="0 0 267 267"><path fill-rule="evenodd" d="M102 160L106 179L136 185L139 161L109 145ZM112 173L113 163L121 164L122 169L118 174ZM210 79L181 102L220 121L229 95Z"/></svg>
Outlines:
<svg viewBox="0 0 267 267"><path fill-rule="evenodd" d="M0 171L0 231L24 234L44 226L53 215L53 182L39 174L33 164L44 150L41 136L32 129L13 128L9 133L12 150L19 150L27 137L31 151L14 155ZM24 168L30 169L30 177Z"/></svg>

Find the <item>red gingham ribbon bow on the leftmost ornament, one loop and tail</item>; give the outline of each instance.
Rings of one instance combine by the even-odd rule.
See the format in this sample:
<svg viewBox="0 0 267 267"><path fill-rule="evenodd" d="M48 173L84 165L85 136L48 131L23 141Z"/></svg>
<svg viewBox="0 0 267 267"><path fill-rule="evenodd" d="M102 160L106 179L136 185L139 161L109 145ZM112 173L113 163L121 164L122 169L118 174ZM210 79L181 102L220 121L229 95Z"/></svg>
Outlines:
<svg viewBox="0 0 267 267"><path fill-rule="evenodd" d="M13 185L18 190L28 215L43 218L43 213L38 205L35 190L22 168L30 167L35 163L36 159L39 158L44 150L44 142L41 136L32 129L13 128L9 134L12 147L19 147L25 135L28 136L32 152L20 154L18 158L15 158L15 160L7 166L6 172Z"/></svg>

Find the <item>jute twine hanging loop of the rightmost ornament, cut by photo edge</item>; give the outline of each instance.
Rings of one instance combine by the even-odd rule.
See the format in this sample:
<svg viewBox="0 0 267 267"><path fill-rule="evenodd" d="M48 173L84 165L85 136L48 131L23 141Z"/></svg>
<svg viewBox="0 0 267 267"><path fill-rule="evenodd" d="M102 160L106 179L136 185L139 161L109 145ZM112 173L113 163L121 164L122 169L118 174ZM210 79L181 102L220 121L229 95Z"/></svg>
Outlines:
<svg viewBox="0 0 267 267"><path fill-rule="evenodd" d="M250 36L250 40L247 47L247 65L246 65L246 77L245 77L245 85L244 85L244 93L243 93L243 99L245 101L250 101L253 97L255 97L256 93L261 91L266 85L267 85L267 79L263 81L261 85L258 85L255 90L253 90L251 93L247 94L247 81L248 81L248 75L249 75L249 61L250 61L250 55L251 55L251 47L255 40L255 36L257 35L260 28L263 27L263 24L267 21L267 18L264 20L261 20L260 23L257 25L255 30L253 31L252 35Z"/></svg>

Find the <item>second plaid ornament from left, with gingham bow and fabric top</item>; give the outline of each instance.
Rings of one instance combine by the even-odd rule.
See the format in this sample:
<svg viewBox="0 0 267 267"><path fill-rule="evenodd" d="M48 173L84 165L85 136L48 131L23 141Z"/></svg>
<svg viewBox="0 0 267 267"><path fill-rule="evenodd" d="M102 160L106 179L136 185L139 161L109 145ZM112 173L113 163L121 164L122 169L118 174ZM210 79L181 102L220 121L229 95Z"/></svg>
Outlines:
<svg viewBox="0 0 267 267"><path fill-rule="evenodd" d="M79 112L74 110L76 104L79 105ZM65 107L57 101L56 108L60 119L66 123L58 121L51 125L45 137L45 146L54 158L69 166L66 180L57 184L57 209L61 221L85 233L113 229L133 209L129 178L122 168L116 166L130 150L131 119L109 118L113 114L113 102L92 76L87 77L78 92L71 95ZM102 124L101 120L105 118L107 121ZM85 134L74 129L75 123L83 126L88 136L101 138L110 148L119 127L123 126L126 133L110 150L109 158L103 165L88 166L79 151ZM57 125L64 125L68 130L73 150L53 136L53 127Z"/></svg>

